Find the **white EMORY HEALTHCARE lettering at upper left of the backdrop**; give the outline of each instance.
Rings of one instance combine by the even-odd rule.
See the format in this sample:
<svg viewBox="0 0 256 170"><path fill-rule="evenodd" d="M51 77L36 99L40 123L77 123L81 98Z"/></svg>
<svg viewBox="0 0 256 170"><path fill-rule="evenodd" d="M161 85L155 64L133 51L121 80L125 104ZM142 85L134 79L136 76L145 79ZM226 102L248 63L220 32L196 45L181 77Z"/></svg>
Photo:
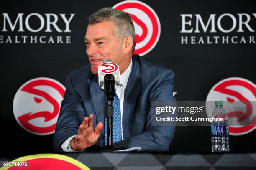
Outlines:
<svg viewBox="0 0 256 170"><path fill-rule="evenodd" d="M70 23L74 18L71 14L55 13L2 13L3 23L0 23L0 43L40 43L40 44L70 44ZM13 18L14 16L14 18ZM1 20L2 21L2 20ZM40 23L36 28L34 23ZM56 36L53 31L56 31ZM13 35L15 34L16 35Z"/></svg>

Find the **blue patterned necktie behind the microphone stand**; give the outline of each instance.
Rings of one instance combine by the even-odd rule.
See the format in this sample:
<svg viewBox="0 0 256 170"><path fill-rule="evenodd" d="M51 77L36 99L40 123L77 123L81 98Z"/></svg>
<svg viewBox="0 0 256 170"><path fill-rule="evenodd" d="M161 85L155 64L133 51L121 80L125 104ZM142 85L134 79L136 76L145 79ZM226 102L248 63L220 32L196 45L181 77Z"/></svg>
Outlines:
<svg viewBox="0 0 256 170"><path fill-rule="evenodd" d="M115 93L113 100L113 143L122 140L120 101ZM107 145L107 118L105 118L105 145Z"/></svg>

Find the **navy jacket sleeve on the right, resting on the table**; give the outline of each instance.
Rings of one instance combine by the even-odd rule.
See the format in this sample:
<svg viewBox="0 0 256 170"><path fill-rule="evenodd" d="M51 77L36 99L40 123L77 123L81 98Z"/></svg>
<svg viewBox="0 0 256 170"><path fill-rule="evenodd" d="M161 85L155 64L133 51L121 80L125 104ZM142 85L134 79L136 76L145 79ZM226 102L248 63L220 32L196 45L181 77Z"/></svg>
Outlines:
<svg viewBox="0 0 256 170"><path fill-rule="evenodd" d="M164 71L156 85L151 90L151 101L175 101L174 73L171 70ZM116 147L141 147L141 151L168 151L174 136L175 126L152 126L151 125L151 102L149 102L146 116L146 131L114 144Z"/></svg>

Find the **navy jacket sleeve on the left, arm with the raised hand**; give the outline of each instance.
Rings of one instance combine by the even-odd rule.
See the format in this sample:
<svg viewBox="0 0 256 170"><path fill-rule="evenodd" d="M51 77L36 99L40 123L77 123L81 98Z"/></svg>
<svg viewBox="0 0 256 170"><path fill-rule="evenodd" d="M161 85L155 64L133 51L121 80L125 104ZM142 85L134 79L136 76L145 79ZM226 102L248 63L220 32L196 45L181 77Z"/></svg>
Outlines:
<svg viewBox="0 0 256 170"><path fill-rule="evenodd" d="M66 91L54 134L54 150L61 151L61 144L73 135L77 135L78 127L85 117L82 99L74 90L70 76L65 83Z"/></svg>

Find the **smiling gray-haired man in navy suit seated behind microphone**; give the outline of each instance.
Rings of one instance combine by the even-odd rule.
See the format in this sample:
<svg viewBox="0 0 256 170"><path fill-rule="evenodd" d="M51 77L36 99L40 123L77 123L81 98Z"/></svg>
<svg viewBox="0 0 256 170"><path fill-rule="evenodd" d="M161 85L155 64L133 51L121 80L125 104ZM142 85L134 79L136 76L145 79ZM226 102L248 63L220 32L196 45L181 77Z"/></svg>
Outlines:
<svg viewBox="0 0 256 170"><path fill-rule="evenodd" d="M115 91L121 134L113 145L168 151L175 126L152 126L150 107L151 101L175 100L174 73L133 55L135 30L128 13L103 8L88 21L84 42L90 64L67 76L54 149L72 152L105 145L106 96L98 85L97 68L111 59L120 68L121 83Z"/></svg>

